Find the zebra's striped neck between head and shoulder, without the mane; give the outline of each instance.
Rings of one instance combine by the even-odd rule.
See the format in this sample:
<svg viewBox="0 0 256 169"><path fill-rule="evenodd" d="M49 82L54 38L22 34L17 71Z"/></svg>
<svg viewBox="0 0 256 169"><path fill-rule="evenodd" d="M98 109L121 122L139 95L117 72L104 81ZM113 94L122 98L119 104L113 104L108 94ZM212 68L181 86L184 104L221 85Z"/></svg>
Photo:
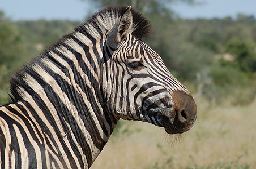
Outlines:
<svg viewBox="0 0 256 169"><path fill-rule="evenodd" d="M117 119L106 109L100 56L92 54L93 45L85 48L68 39L25 66L12 83L19 94L16 104L22 103L32 112L27 117L52 144L49 149L89 167Z"/></svg>

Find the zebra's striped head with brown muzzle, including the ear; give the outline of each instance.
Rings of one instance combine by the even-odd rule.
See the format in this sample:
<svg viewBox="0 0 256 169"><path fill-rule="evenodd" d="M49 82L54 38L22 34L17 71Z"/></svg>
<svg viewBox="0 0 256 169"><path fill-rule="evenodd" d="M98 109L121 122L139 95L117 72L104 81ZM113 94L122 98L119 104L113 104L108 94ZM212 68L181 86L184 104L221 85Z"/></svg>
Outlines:
<svg viewBox="0 0 256 169"><path fill-rule="evenodd" d="M117 118L164 127L168 134L185 132L197 117L195 101L161 57L138 39L138 31L145 34L150 26L143 19L144 29L138 30L141 25L135 23L134 15L139 14L127 7L106 35L105 50L110 55L105 84L108 109Z"/></svg>

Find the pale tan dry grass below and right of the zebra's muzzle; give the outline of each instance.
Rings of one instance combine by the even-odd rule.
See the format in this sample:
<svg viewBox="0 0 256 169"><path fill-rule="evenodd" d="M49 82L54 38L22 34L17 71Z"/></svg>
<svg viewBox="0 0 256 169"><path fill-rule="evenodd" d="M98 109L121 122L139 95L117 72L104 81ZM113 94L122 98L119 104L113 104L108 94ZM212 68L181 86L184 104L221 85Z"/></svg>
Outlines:
<svg viewBox="0 0 256 169"><path fill-rule="evenodd" d="M181 136L123 122L92 168L256 168L256 101L212 109L197 103L197 123Z"/></svg>

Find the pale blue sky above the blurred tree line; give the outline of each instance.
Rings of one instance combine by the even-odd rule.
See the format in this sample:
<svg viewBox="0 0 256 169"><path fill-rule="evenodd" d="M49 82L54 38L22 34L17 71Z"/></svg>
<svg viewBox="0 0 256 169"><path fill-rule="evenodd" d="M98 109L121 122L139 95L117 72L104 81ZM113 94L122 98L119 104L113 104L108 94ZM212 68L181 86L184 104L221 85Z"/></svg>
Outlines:
<svg viewBox="0 0 256 169"><path fill-rule="evenodd" d="M256 16L256 0L195 0L200 5L174 3L172 9L185 19L236 17L237 14ZM95 12L88 1L82 0L0 0L0 10L11 20L72 20L83 21Z"/></svg>

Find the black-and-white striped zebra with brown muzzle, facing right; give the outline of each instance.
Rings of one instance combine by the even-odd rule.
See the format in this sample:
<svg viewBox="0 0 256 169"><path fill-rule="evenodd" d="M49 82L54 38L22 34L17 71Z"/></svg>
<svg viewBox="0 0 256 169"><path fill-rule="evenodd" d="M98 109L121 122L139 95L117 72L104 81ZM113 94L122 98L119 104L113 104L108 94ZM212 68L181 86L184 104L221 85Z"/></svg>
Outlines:
<svg viewBox="0 0 256 169"><path fill-rule="evenodd" d="M119 119L190 130L197 106L141 38L141 14L106 7L18 70L0 107L2 168L89 168Z"/></svg>

